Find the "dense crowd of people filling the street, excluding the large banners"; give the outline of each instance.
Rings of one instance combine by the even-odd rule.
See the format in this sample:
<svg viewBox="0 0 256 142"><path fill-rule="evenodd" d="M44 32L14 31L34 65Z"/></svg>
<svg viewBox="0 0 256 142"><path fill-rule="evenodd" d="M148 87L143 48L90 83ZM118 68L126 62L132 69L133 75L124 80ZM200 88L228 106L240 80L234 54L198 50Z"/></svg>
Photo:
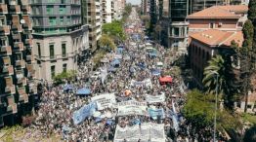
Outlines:
<svg viewBox="0 0 256 142"><path fill-rule="evenodd" d="M141 21L135 11L132 12L130 21L127 22L128 25L132 23L135 27L141 28ZM155 44L154 46L157 47L158 54L150 56L145 50L147 41L144 38L143 32L127 34L130 37L123 44L122 52L119 53L122 56L120 63L110 63L114 60L113 56L117 54L117 52L113 52L109 55L112 55L112 57L106 57L106 60L97 69L102 74L103 71L101 70L107 70L105 80L102 79L103 75L92 78L96 71L92 69L92 60L88 60L80 65L77 76L73 81L65 81L65 85L57 87L45 84L44 92L41 96L40 109L36 112L38 117L35 123L31 124L30 128L39 130L39 133L44 137L53 133L60 134L64 141L113 141L116 125L121 127L131 126L136 124L133 123L134 120L139 120L139 124L164 124L166 141L172 141L169 138L170 131L176 131L175 136L178 137L177 139L185 140L185 137L182 135L187 135L188 132L186 130L184 132L184 129L187 129L187 127L185 126L181 131L183 119L180 116L180 109L184 103L183 95L186 91L182 86L182 79L173 78L171 85L160 85L159 77L161 74L153 75L151 71L157 68L157 62L163 62L163 66L157 68L161 72L171 68L170 64L165 62L165 50ZM133 38L132 34L137 34L140 38ZM133 81L144 82L146 80L149 80L149 84L131 84ZM66 85L72 87L72 89L65 90L64 86ZM77 90L82 88L90 89L90 94L86 96L77 95ZM109 107L98 111L101 114L106 114L100 120L95 116L90 116L82 123L74 124L73 113L92 102L92 97L103 93L114 93L117 103L129 100L146 102L145 94L152 96L164 94L165 101L147 102L147 107L163 109L165 117L152 119L149 115L118 116L118 109L116 107ZM175 122L172 119L173 113L176 113L178 116L178 123L176 122L176 124L181 126L175 127ZM128 140L124 138L123 141ZM138 139L138 141L141 140Z"/></svg>

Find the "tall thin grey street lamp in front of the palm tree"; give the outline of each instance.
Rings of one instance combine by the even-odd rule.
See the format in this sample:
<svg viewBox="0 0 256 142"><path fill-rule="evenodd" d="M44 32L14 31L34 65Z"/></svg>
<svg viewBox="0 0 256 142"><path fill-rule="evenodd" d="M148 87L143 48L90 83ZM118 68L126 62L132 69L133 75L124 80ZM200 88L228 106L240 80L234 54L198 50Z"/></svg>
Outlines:
<svg viewBox="0 0 256 142"><path fill-rule="evenodd" d="M216 75L216 88L215 88L215 110L214 110L214 133L213 133L213 142L216 141L216 118L217 118L217 99L218 99L218 80L219 73L217 71L212 71L214 75Z"/></svg>

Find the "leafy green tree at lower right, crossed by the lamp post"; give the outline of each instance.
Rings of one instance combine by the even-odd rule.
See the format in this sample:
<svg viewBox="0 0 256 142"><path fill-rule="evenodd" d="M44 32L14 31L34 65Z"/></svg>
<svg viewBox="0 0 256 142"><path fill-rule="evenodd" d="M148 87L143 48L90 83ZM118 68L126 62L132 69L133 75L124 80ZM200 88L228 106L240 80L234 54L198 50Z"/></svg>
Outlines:
<svg viewBox="0 0 256 142"><path fill-rule="evenodd" d="M214 120L214 102L213 94L204 94L197 89L193 89L187 94L187 100L182 110L187 123L192 125L191 135L199 134L199 141L202 138L212 137L212 128ZM242 127L238 116L228 110L217 109L217 130L235 130Z"/></svg>

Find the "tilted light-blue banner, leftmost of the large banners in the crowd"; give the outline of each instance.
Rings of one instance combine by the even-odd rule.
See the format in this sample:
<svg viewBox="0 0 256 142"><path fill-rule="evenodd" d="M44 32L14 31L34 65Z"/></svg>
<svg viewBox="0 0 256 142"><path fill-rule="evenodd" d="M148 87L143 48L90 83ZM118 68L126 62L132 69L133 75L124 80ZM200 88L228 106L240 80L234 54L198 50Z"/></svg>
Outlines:
<svg viewBox="0 0 256 142"><path fill-rule="evenodd" d="M96 103L91 102L88 105L84 105L79 110L73 113L73 123L80 124L85 118L91 117L96 110Z"/></svg>

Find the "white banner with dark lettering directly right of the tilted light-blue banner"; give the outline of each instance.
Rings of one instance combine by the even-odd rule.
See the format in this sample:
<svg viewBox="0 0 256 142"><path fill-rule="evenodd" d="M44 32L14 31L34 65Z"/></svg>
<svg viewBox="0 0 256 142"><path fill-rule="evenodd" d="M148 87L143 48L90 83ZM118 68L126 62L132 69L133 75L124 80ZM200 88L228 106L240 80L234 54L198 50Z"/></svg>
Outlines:
<svg viewBox="0 0 256 142"><path fill-rule="evenodd" d="M104 110L106 108L113 107L116 103L114 93L105 93L92 97L92 101L97 103L98 110Z"/></svg>

